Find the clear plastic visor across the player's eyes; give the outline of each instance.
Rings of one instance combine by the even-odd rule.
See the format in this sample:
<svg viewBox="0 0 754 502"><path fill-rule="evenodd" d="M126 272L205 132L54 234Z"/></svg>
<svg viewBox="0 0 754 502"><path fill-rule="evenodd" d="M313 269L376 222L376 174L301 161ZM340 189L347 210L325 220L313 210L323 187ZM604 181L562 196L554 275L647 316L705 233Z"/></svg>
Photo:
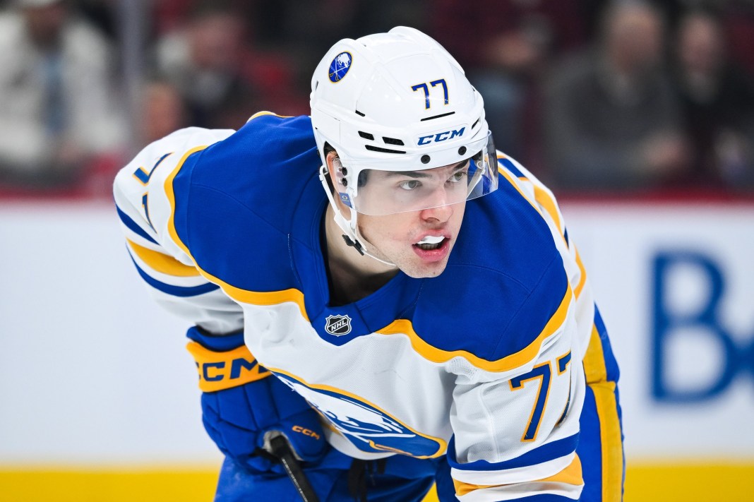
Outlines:
<svg viewBox="0 0 754 502"><path fill-rule="evenodd" d="M339 193L357 213L382 216L458 204L498 188L492 134L483 148L457 164L425 170L363 169L357 187Z"/></svg>

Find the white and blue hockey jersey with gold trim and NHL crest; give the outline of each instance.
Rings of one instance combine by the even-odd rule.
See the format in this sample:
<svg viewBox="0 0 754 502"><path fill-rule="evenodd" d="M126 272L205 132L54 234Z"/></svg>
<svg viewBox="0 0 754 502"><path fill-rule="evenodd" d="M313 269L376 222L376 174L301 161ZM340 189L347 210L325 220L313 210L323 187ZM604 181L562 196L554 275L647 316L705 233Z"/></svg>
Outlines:
<svg viewBox="0 0 754 502"><path fill-rule="evenodd" d="M335 448L447 454L461 500L578 499L593 298L550 191L498 165L500 188L467 203L443 274L399 273L343 306L329 303L308 117L179 130L121 170L115 201L158 301L216 334L244 329Z"/></svg>

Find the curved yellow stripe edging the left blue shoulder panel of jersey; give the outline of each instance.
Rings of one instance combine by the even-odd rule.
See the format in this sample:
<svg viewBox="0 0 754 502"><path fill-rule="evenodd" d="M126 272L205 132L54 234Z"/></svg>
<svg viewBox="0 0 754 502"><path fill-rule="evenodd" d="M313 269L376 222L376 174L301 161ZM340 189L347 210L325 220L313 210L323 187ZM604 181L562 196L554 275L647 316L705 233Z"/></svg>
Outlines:
<svg viewBox="0 0 754 502"><path fill-rule="evenodd" d="M271 112L259 112L258 114L255 114L254 116L258 115L274 115ZM251 120L251 119L250 119ZM170 234L170 238L173 239L173 242L176 243L176 246L178 246L180 249L182 249L183 253L185 253L189 258L192 259L192 262L194 262L194 265L196 269L199 271L199 273L205 277L207 280L209 280L212 283L217 284L220 286L223 292L225 292L226 295L230 296L234 300L238 302L248 303L251 305L278 305L280 303L285 302L293 302L296 305L299 306L299 311L301 312L302 317L304 317L305 320L309 320L308 315L306 314L306 308L304 306L304 294L300 292L298 289L285 289L283 291L271 291L271 292L255 292L255 291L249 291L248 289L241 289L236 286L231 286L231 284L226 283L224 280L219 279L218 277L213 276L207 271L204 271L199 265L197 265L196 260L191 254L191 251L189 250L189 247L183 243L181 238L178 236L178 231L176 231L176 225L175 225L175 214L176 214L176 194L173 191L173 179L176 178L179 171L181 170L181 167L183 167L183 164L185 163L186 159L189 158L189 155L192 155L196 152L200 152L201 150L204 150L204 148L207 148L207 145L204 146L198 146L196 148L192 148L188 152L185 152L183 157L178 161L178 164L176 165L175 169L173 169L173 172L170 173L170 176L167 176L167 179L165 179L165 195L167 196L168 203L170 204L170 216L167 219L167 232Z"/></svg>

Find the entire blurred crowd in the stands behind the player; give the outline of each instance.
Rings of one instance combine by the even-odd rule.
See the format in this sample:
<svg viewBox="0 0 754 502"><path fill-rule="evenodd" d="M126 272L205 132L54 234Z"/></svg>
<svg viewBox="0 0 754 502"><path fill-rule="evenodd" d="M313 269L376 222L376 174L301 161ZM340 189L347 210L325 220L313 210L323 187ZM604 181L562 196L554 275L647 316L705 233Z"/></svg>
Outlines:
<svg viewBox="0 0 754 502"><path fill-rule="evenodd" d="M306 114L330 45L397 25L556 191L754 194L754 0L0 0L0 197L107 196L180 127Z"/></svg>

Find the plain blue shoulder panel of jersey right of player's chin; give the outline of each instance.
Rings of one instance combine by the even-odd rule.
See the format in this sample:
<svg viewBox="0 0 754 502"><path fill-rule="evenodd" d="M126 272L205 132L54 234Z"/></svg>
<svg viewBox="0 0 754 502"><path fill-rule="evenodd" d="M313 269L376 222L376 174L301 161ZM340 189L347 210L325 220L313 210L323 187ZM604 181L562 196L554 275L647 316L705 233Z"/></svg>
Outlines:
<svg viewBox="0 0 754 502"><path fill-rule="evenodd" d="M567 291L546 222L501 179L467 203L446 271L426 280L412 324L435 347L500 360L535 341Z"/></svg>

